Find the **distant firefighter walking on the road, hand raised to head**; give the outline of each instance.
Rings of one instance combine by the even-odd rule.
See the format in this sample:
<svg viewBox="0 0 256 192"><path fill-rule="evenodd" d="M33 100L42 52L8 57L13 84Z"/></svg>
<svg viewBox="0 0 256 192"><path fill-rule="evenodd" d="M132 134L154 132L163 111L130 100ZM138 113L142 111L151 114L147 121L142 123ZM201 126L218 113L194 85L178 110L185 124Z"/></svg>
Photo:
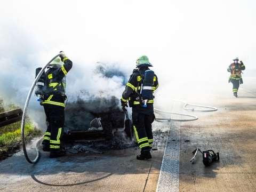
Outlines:
<svg viewBox="0 0 256 192"><path fill-rule="evenodd" d="M240 61L240 63L238 62L238 58L233 59L233 61L234 62L231 63L228 67L228 72L231 73L228 82L231 82L233 84L233 94L237 98L239 85L243 84L242 70L245 70L245 66L243 61Z"/></svg>

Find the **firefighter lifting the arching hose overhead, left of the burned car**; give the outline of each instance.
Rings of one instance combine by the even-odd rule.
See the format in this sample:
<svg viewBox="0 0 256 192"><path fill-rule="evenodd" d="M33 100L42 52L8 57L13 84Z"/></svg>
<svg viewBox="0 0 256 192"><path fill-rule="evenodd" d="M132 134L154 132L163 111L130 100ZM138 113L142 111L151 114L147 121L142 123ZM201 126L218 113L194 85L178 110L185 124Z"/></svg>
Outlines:
<svg viewBox="0 0 256 192"><path fill-rule="evenodd" d="M66 75L72 68L65 53L54 59L45 72L45 89L42 105L46 115L47 130L43 138L43 150L50 151L50 158L65 155L61 149L62 127L65 122Z"/></svg>

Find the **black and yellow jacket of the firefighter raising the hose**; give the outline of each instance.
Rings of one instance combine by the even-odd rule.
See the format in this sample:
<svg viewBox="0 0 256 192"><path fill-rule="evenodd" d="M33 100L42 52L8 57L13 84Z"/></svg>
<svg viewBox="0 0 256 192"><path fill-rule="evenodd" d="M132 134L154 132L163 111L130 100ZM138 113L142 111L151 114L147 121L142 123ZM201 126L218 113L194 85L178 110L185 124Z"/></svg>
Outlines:
<svg viewBox="0 0 256 192"><path fill-rule="evenodd" d="M46 84L43 105L65 107L66 75L73 63L68 58L62 59L64 64L57 68L50 68L45 73Z"/></svg>

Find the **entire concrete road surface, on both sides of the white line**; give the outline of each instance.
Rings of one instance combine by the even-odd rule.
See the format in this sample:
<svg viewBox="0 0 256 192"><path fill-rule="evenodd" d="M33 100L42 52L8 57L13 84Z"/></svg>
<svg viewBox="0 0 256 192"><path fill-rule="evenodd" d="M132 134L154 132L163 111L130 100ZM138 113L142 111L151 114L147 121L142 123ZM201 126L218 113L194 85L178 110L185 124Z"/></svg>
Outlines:
<svg viewBox="0 0 256 192"><path fill-rule="evenodd" d="M155 122L154 130L165 133L156 134L158 150L149 161L135 159L138 148L58 159L43 153L36 165L27 163L20 152L0 162L0 191L256 191L253 82L242 86L239 98L228 85L214 95L191 100L218 108L212 113L185 112L199 116L197 121ZM182 105L174 103L172 110L182 112ZM197 147L218 151L220 162L205 167L198 154L191 164L191 152Z"/></svg>

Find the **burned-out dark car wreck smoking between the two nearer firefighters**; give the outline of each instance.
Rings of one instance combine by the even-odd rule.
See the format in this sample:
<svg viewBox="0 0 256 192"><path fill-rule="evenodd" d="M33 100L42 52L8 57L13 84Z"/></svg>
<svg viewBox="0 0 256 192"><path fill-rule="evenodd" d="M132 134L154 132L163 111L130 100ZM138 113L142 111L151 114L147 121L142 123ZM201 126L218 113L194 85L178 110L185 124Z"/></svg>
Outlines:
<svg viewBox="0 0 256 192"><path fill-rule="evenodd" d="M133 137L131 113L124 113L116 97L78 98L68 103L63 128L65 141L111 140L117 132Z"/></svg>

